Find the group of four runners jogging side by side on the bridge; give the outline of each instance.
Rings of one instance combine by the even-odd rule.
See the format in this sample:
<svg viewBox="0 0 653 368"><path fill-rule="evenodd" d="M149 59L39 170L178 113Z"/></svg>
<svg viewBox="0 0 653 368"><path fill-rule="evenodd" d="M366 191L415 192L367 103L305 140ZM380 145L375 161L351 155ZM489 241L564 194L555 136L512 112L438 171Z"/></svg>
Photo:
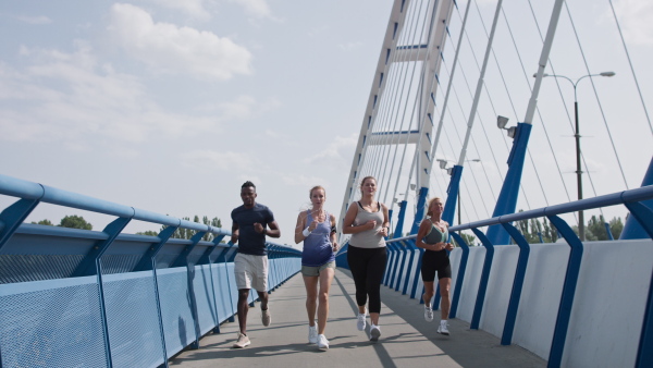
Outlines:
<svg viewBox="0 0 653 368"><path fill-rule="evenodd" d="M360 200L349 205L343 222L344 234L352 234L347 249L347 262L356 287L358 316L356 327L366 331L367 316L370 317L368 338L378 341L381 336L381 281L385 272L387 255L385 237L390 234L390 217L385 205L374 199L377 180L366 176L360 183ZM268 308L268 257L266 236L280 237L281 231L272 211L256 201L256 186L246 182L241 187L243 206L232 211L233 244L238 243L234 259L234 273L238 289L237 316L239 332L234 348L250 344L247 336L247 298L251 289L260 299L261 321L271 323ZM329 290L335 272L336 219L326 212L326 191L313 186L309 191L311 208L299 212L295 226L295 243L304 242L301 274L306 286L306 311L308 317L308 341L319 349L329 349L324 335L329 317ZM448 223L442 220L444 205L439 197L428 205L427 218L417 233L416 245L426 249L422 256L421 277L424 285L424 319L433 320L431 300L435 294L434 280L438 273L441 294L441 321L438 333L448 335L449 289L452 269L446 250L454 247L448 240ZM318 317L316 326L316 314Z"/></svg>

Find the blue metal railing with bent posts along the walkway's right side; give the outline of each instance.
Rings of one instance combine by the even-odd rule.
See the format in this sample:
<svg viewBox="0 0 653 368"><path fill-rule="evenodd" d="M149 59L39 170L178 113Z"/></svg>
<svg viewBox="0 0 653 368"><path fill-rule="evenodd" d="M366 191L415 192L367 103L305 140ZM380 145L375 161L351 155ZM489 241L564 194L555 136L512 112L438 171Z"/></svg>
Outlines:
<svg viewBox="0 0 653 368"><path fill-rule="evenodd" d="M530 245L522 236L522 234L510 223L514 221L529 220L533 218L546 217L553 225L557 229L559 234L565 238L567 244L570 246L570 253L567 263L567 270L565 274L565 281L563 284L563 291L555 321L555 329L553 340L551 344L551 351L549 355L549 366L559 367L562 364L563 353L565 348L565 342L567 339L569 320L571 315L571 307L574 305L574 297L576 294L576 286L578 283L578 277L580 272L580 266L582 260L583 244L578 238L576 233L572 231L558 214L575 212L578 210L588 210L600 207L625 205L630 214L638 221L638 223L644 229L646 234L653 238L653 210L641 201L645 201L653 198L653 186L643 186L636 189L614 193L609 195L599 196L594 198L582 199L569 204L556 205L544 207L540 209L522 211L518 213L510 213L498 216L495 218L476 221L468 224L460 224L449 228L449 234L457 241L461 247L460 262L457 270L456 284L452 295L452 306L449 317L455 318L461 290L465 285L465 272L469 256L469 246L465 240L459 236L457 231L471 230L479 237L482 245L486 248L485 260L483 269L481 271L480 283L478 294L475 302L473 315L471 320L471 329L479 328L479 321L482 314L482 308L485 302L485 289L490 277L490 270L492 268L492 257L495 244L492 244L490 240L479 229L484 226L500 225L506 230L510 238L519 247L519 258L517 260L517 268L515 278L513 281L513 289L509 297L508 307L506 310L506 319L502 334L502 344L509 345L513 339L513 332L515 328L515 320L517 318L517 311L522 292L522 285L527 271L527 263L529 259ZM410 279L412 279L412 291L410 298L416 297L416 291L418 280L420 277L420 265L419 261L414 260L414 256L418 255L421 249L415 246L416 235L387 240L389 253L389 266L384 278L384 284L390 287L394 286L398 289L403 282L407 286ZM348 244L347 244L348 245ZM405 265L405 271L396 272L397 269L403 269L407 257L406 252L411 253L411 257ZM343 247L337 254L336 259L338 267L348 268L346 262L347 246ZM402 257L403 256L403 257ZM421 259L421 258L418 258ZM417 265L416 265L417 263ZM416 266L416 267L412 267ZM406 290L406 287L404 287ZM421 298L420 298L421 299ZM438 303L433 304L438 306ZM637 353L637 367L652 367L653 366L653 274L651 274L651 282L649 283L649 296L646 299L646 306L644 311L643 323L640 331L639 348Z"/></svg>

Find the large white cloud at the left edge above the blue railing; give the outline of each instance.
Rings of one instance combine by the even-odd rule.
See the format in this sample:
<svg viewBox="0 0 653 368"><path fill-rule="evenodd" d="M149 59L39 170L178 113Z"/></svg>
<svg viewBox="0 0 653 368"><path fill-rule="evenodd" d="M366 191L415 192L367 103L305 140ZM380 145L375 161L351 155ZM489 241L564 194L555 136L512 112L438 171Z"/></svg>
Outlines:
<svg viewBox="0 0 653 368"><path fill-rule="evenodd" d="M0 139L78 150L86 149L79 139L174 139L219 130L220 118L164 111L138 78L99 64L85 42L76 47L72 53L22 47L25 66L0 63Z"/></svg>

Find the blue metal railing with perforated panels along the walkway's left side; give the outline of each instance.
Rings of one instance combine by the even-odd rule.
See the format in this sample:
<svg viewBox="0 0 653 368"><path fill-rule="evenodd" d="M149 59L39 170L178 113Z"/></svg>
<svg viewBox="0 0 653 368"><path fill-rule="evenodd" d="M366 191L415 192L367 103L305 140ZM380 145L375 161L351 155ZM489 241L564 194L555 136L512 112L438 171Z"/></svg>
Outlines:
<svg viewBox="0 0 653 368"><path fill-rule="evenodd" d="M230 232L5 175L0 194L19 198L0 212L0 366L168 366L234 320ZM41 203L116 218L101 232L23 223ZM167 228L123 234L132 220ZM196 234L171 238L177 229ZM272 292L299 271L300 252L268 250Z"/></svg>

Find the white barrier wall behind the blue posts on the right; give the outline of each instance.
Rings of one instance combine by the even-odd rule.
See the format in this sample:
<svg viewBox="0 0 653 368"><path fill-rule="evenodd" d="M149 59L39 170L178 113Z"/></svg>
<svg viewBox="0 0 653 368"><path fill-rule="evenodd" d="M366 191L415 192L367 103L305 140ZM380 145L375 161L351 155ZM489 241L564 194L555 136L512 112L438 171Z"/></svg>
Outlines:
<svg viewBox="0 0 653 368"><path fill-rule="evenodd" d="M513 343L544 359L551 349L569 252L565 242L532 244L530 249ZM449 258L452 295L461 254L456 248ZM503 334L518 256L516 245L494 248L480 328L498 338ZM484 259L484 247L470 248L456 315L467 322L473 315ZM563 366L634 365L652 272L651 240L584 243Z"/></svg>

